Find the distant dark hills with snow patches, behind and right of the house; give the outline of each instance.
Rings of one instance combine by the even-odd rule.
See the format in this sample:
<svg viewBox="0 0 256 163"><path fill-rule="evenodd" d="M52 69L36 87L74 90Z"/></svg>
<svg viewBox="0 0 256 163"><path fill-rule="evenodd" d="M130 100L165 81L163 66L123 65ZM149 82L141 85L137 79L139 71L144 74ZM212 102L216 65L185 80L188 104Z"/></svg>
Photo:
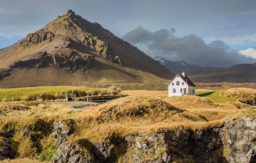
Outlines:
<svg viewBox="0 0 256 163"><path fill-rule="evenodd" d="M228 69L201 67L192 65L186 61L170 61L163 56L155 56L154 60L164 65L174 74L186 72L186 75L196 83L255 83L256 63L237 64Z"/></svg>

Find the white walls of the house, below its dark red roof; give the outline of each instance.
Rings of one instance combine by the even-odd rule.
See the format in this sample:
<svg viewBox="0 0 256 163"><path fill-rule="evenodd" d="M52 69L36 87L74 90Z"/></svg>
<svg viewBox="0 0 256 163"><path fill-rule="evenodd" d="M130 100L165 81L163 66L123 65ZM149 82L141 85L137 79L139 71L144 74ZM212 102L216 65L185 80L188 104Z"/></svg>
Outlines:
<svg viewBox="0 0 256 163"><path fill-rule="evenodd" d="M177 81L180 82L180 85L177 85ZM184 82L184 85L182 85L182 82ZM172 85L172 83L174 85ZM168 97L184 95L184 88L187 88L187 95L196 95L196 87L187 85L186 82L183 81L183 79L181 79L180 77L177 76L176 78L174 78L172 83L168 85ZM173 93L173 89L176 89L176 93ZM180 92L180 89L182 89L182 92Z"/></svg>

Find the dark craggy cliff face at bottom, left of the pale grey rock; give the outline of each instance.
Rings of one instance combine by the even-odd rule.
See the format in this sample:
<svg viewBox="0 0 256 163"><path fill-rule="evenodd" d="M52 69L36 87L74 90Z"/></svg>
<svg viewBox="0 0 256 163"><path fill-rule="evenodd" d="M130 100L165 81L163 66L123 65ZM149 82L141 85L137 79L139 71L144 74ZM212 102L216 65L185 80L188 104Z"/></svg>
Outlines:
<svg viewBox="0 0 256 163"><path fill-rule="evenodd" d="M133 163L168 163L175 160L193 159L197 163L223 163L224 156L221 149L221 137L218 128L213 130L184 131L159 130L157 133L146 133L145 136L134 137L135 153L132 154ZM126 160L128 160L126 158Z"/></svg>

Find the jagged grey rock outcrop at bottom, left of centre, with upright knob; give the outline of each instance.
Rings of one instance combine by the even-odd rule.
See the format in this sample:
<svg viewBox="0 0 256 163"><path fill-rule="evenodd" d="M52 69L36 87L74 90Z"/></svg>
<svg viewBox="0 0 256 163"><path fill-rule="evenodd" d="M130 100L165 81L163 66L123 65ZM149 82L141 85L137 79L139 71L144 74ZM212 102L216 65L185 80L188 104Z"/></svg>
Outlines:
<svg viewBox="0 0 256 163"><path fill-rule="evenodd" d="M111 163L116 160L111 144L92 144L86 140L81 140L91 146L88 149L93 154L91 156L88 152L80 150L81 144L68 141L68 136L71 134L68 125L64 125L62 122L54 122L53 126L52 136L56 138L57 152L52 157L52 163L92 163L95 161L98 163ZM93 160L92 157L94 158Z"/></svg>

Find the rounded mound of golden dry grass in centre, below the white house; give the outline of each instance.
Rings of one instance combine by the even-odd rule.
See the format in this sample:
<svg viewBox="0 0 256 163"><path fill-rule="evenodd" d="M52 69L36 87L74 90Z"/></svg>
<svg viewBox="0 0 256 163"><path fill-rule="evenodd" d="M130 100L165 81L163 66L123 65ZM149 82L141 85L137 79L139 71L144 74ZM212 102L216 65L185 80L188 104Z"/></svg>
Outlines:
<svg viewBox="0 0 256 163"><path fill-rule="evenodd" d="M131 96L106 103L105 106L101 106L98 109L100 113L98 118L108 117L116 121L126 118L149 117L159 121L184 111L158 98L144 100Z"/></svg>

